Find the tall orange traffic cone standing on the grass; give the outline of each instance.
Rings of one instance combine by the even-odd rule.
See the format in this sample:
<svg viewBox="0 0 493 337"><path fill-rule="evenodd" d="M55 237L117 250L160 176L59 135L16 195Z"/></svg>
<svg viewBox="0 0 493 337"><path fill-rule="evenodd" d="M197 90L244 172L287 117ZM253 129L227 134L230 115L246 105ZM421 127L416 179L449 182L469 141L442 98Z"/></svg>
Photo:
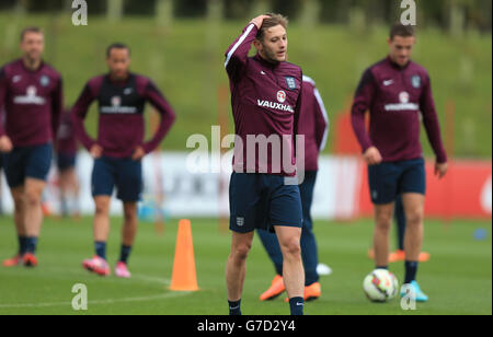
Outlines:
<svg viewBox="0 0 493 337"><path fill-rule="evenodd" d="M198 290L190 220L181 220L179 224L170 289L174 291Z"/></svg>

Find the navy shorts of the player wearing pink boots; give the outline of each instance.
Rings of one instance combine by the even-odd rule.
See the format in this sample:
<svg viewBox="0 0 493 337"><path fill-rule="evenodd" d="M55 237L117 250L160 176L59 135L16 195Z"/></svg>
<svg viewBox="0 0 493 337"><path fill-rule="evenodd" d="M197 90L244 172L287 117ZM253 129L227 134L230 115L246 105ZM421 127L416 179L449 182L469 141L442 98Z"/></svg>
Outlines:
<svg viewBox="0 0 493 337"><path fill-rule="evenodd" d="M141 161L108 156L96 159L92 171L92 196L112 196L115 187L119 200L140 201L144 187Z"/></svg>

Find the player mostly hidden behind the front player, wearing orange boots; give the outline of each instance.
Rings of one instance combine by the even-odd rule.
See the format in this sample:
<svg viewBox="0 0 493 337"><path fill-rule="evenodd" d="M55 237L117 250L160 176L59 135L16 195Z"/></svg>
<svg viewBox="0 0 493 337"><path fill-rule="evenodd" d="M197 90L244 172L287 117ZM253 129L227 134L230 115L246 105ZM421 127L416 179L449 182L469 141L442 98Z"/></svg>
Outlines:
<svg viewBox="0 0 493 337"><path fill-rule="evenodd" d="M319 171L319 153L323 151L329 135L329 117L316 83L303 75L302 106L298 125L298 135L305 136L305 182L299 186L303 210L303 228L301 232L301 257L305 266L305 301L320 298L322 289L319 283L319 254L313 234L311 204ZM259 236L268 253L276 270L271 288L261 294L261 301L274 300L286 287L283 281L283 254L275 234L257 230Z"/></svg>

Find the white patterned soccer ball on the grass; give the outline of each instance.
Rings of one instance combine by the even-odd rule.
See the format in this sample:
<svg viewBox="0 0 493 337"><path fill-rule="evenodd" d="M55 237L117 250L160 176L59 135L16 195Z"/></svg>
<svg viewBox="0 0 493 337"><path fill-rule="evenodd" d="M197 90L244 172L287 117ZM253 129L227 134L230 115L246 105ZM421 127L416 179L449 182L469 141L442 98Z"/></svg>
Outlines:
<svg viewBox="0 0 493 337"><path fill-rule="evenodd" d="M363 289L371 302L387 302L395 298L399 281L389 270L376 269L365 278Z"/></svg>

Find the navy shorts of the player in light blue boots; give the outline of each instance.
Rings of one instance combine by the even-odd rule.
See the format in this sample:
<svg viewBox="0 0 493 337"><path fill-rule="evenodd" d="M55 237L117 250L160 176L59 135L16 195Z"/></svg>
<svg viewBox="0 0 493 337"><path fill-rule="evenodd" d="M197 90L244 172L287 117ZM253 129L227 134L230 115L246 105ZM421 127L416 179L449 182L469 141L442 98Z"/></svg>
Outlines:
<svg viewBox="0 0 493 337"><path fill-rule="evenodd" d="M426 173L423 159L368 166L371 201L386 205L406 193L425 195Z"/></svg>

